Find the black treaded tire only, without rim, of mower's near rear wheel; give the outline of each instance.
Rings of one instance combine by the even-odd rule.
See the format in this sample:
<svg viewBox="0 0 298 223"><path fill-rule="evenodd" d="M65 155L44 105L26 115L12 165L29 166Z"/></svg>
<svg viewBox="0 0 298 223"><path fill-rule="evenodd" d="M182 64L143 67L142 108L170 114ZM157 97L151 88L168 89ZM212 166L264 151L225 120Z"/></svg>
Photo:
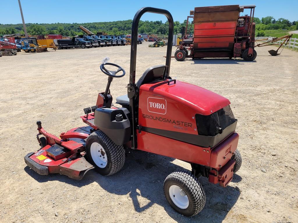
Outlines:
<svg viewBox="0 0 298 223"><path fill-rule="evenodd" d="M174 204L170 197L170 186L177 185L186 193L189 205L186 209L181 209ZM176 171L167 176L164 180L164 194L171 207L185 216L194 216L203 210L206 203L205 190L193 174L188 171Z"/></svg>

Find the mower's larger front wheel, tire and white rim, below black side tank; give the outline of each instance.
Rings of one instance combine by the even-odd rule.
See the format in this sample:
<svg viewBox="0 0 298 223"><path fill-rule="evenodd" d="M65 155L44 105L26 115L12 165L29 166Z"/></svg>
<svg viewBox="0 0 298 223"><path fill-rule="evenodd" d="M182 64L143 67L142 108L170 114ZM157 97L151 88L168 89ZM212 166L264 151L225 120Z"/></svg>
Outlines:
<svg viewBox="0 0 298 223"><path fill-rule="evenodd" d="M116 145L100 130L88 136L86 153L95 170L105 176L117 173L125 162L124 147L122 145Z"/></svg>

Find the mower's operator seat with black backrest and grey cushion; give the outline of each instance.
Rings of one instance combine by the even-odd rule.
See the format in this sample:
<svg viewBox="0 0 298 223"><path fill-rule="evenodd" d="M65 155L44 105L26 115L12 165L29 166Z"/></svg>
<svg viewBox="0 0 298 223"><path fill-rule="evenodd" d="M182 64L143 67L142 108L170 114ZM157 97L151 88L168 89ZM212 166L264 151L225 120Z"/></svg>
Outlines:
<svg viewBox="0 0 298 223"><path fill-rule="evenodd" d="M157 65L149 67L147 70L145 70L138 82L136 82L137 87L140 88L142 84L147 84L156 80L162 80L166 71L166 65ZM122 105L122 107L128 108L129 110L129 98L127 95L121 95L117 97L116 103Z"/></svg>

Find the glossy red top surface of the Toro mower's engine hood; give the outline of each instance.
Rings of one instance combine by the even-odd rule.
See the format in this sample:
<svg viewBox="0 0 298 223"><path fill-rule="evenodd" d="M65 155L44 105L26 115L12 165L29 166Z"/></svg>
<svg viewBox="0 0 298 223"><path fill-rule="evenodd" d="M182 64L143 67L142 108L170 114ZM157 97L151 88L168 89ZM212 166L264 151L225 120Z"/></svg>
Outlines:
<svg viewBox="0 0 298 223"><path fill-rule="evenodd" d="M221 95L183 81L176 81L176 84L171 82L170 85L167 81L148 83L143 84L140 89L183 103L202 115L212 114L230 104L230 101Z"/></svg>

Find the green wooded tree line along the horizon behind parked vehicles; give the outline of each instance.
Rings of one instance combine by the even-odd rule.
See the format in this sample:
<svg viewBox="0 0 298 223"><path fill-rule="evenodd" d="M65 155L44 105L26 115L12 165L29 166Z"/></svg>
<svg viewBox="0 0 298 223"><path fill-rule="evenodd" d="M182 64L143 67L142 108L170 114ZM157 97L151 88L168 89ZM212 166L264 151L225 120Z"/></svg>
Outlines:
<svg viewBox="0 0 298 223"><path fill-rule="evenodd" d="M272 16L263 18L254 18L256 23L256 36L264 36L264 30L283 29L295 30L298 29L298 21L290 22L287 19L279 18L277 20ZM84 26L91 32L104 32L110 35L130 34L132 20L113 21L113 22L93 22L93 23L27 23L27 32L30 35L44 34L62 34L63 36L75 36L84 34L79 26ZM186 20L183 23L174 22L174 33L182 32L182 27L186 26ZM189 26L190 27L190 26ZM0 34L24 34L23 24L0 24ZM139 33L147 34L168 34L168 21L140 21ZM193 26L190 32L193 33Z"/></svg>

